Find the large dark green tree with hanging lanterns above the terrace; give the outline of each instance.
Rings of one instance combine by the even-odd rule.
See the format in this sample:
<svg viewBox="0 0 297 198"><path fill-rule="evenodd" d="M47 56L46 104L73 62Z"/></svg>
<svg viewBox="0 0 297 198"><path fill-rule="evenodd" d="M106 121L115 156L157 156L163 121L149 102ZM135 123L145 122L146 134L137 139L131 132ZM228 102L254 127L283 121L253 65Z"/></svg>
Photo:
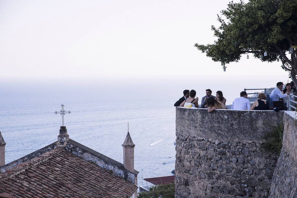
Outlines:
<svg viewBox="0 0 297 198"><path fill-rule="evenodd" d="M212 26L217 41L195 47L223 68L238 62L242 54L252 53L265 62L281 60L297 85L297 0L250 0L229 2L218 16L220 27ZM289 54L290 47L291 54ZM267 52L267 56L265 51ZM265 53L265 55L264 55ZM291 56L290 56L291 55Z"/></svg>

